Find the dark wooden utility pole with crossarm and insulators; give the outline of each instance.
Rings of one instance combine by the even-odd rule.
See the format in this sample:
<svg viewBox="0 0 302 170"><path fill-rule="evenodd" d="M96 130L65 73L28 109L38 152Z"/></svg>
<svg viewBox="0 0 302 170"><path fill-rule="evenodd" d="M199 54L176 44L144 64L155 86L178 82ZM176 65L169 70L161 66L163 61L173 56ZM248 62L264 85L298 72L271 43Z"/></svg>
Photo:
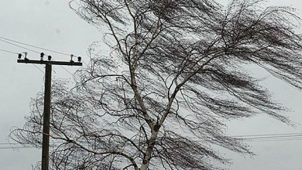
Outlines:
<svg viewBox="0 0 302 170"><path fill-rule="evenodd" d="M25 52L24 59L19 54L17 63L29 64L45 64L45 90L44 90L44 111L43 111L43 141L42 141L42 165L41 170L48 170L49 164L49 143L50 143L50 101L51 101L51 73L52 65L64 66L82 66L81 57L78 57L78 62L73 62L71 55L70 62L55 62L51 61L51 56L48 56L48 61L43 60L44 53L41 53L41 60L27 59Z"/></svg>

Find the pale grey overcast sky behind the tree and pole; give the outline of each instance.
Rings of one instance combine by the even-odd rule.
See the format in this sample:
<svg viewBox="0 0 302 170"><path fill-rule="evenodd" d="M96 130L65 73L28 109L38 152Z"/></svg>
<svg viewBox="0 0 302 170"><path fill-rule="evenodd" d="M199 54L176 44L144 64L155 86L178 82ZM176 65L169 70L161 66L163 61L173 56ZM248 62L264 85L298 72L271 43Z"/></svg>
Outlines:
<svg viewBox="0 0 302 170"><path fill-rule="evenodd" d="M93 41L101 41L102 34L75 15L69 8L68 2L67 0L0 0L0 37L66 54L80 55L85 61L87 47ZM302 10L302 1L299 0L271 0L268 4L293 6ZM298 12L302 17L302 11ZM302 33L302 29L297 31ZM4 40L3 38L0 40ZM12 52L27 51L29 58L39 58L35 52L3 41L0 41L0 49ZM31 49L52 55L55 60L69 60L67 55ZM0 51L0 59L0 169L31 169L31 164L36 164L41 159L41 150L12 149L6 143L13 142L8 141L10 128L24 125L24 116L29 115L30 98L43 90L44 68L40 65L36 68L32 64L17 64L17 55L8 52ZM54 66L53 69L54 78L71 78L69 72L73 73L76 68L66 66L65 69L69 72L60 66ZM260 77L268 76L268 73L263 70L255 70L254 74ZM262 83L272 90L275 100L292 108L292 112L287 115L296 122L296 127L289 127L266 115L261 115L252 119L226 122L229 126L227 134L302 134L302 92L273 76L268 76ZM257 156L250 158L222 151L226 157L233 159L233 164L227 166L228 169L302 169L302 137L300 140L252 141L247 144Z"/></svg>

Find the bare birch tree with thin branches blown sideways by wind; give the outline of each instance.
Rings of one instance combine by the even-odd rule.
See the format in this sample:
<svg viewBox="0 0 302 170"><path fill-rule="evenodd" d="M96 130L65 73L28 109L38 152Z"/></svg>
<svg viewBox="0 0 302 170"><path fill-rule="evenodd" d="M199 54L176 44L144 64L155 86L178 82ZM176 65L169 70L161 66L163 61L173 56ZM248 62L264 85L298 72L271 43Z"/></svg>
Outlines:
<svg viewBox="0 0 302 170"><path fill-rule="evenodd" d="M264 1L75 0L104 32L77 85L52 93L52 169L217 169L221 146L252 154L224 120L264 113L291 125L247 65L302 88L300 18ZM104 31L104 28L108 31ZM13 138L40 146L43 95Z"/></svg>

